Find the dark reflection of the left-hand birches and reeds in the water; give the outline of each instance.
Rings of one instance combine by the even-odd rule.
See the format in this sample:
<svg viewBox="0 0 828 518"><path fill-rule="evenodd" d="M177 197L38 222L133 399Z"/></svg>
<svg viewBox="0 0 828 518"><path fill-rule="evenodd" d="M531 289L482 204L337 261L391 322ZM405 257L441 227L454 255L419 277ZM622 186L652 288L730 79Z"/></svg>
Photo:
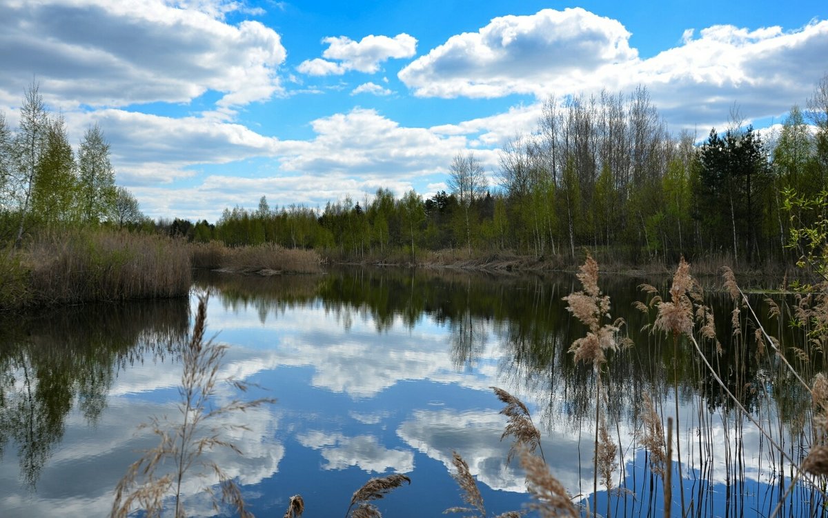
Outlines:
<svg viewBox="0 0 828 518"><path fill-rule="evenodd" d="M0 453L17 447L26 485L35 486L75 406L98 423L118 370L163 362L185 337L185 300L54 309L0 324Z"/></svg>

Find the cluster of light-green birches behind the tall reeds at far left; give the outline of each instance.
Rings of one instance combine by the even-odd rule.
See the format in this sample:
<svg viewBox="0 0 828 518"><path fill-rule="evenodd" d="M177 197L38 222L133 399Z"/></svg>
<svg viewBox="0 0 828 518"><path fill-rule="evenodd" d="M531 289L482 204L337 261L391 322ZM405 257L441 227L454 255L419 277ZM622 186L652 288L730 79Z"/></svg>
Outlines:
<svg viewBox="0 0 828 518"><path fill-rule="evenodd" d="M63 116L49 113L38 84L26 89L16 131L0 112L0 242L19 246L43 228L142 219L134 196L115 185L109 143L97 124L75 152Z"/></svg>

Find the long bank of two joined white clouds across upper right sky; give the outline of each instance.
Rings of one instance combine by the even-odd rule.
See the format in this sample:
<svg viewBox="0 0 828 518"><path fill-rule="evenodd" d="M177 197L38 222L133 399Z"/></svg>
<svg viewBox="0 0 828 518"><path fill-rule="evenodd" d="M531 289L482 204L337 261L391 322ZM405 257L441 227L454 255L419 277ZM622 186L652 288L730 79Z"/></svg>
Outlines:
<svg viewBox="0 0 828 518"><path fill-rule="evenodd" d="M828 22L793 31L736 26L688 29L648 59L620 22L580 8L494 18L413 61L399 79L419 96L629 92L639 84L673 128L720 124L738 103L749 119L779 116L811 94L828 55Z"/></svg>

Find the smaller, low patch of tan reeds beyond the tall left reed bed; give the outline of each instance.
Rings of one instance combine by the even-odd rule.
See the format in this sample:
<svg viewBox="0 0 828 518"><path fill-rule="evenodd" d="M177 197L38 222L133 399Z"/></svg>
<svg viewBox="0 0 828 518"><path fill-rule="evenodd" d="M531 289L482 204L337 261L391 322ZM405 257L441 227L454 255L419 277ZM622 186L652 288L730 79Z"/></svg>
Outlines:
<svg viewBox="0 0 828 518"><path fill-rule="evenodd" d="M220 242L191 243L195 268L238 273L320 273L321 259L313 250L291 249L276 244L255 247L225 247Z"/></svg>

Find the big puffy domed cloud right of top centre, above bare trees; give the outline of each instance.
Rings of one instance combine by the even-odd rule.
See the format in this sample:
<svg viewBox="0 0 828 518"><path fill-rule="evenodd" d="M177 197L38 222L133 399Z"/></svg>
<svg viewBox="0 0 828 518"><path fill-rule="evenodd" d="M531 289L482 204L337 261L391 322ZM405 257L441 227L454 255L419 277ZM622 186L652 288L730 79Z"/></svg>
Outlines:
<svg viewBox="0 0 828 518"><path fill-rule="evenodd" d="M634 60L629 36L620 22L580 7L498 17L478 32L452 36L398 76L420 96L533 94L557 78Z"/></svg>

